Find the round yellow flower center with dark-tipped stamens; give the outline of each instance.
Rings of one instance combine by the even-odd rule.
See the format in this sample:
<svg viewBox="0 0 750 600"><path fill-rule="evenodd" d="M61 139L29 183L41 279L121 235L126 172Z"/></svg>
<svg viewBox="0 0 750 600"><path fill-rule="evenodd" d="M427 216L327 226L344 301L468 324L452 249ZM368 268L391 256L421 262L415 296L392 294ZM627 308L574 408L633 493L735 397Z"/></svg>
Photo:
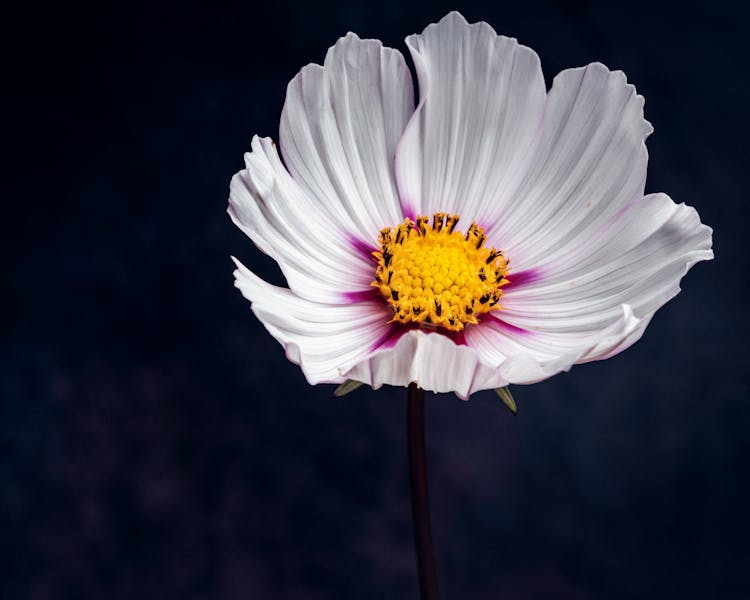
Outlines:
<svg viewBox="0 0 750 600"><path fill-rule="evenodd" d="M461 331L477 315L500 308L508 261L485 248L476 223L466 234L455 230L458 215L435 213L406 219L380 232L378 268L372 285L393 309L398 323L421 323Z"/></svg>

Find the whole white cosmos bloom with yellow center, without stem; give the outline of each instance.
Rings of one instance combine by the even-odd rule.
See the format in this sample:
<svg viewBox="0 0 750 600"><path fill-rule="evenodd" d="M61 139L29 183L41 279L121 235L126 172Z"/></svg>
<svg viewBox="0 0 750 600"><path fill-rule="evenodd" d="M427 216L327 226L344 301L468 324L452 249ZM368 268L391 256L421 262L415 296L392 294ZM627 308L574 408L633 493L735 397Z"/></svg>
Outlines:
<svg viewBox="0 0 750 600"><path fill-rule="evenodd" d="M644 195L643 98L600 63L549 92L536 53L456 13L403 56L349 33L289 83L229 213L281 267L236 285L311 384L534 383L637 341L711 229ZM286 165L286 167L285 167Z"/></svg>

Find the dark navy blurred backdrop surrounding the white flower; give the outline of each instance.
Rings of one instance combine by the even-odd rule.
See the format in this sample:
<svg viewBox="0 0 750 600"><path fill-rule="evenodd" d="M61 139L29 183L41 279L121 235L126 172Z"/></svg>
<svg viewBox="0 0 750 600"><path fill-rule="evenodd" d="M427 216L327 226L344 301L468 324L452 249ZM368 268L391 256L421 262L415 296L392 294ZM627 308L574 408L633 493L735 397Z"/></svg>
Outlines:
<svg viewBox="0 0 750 600"><path fill-rule="evenodd" d="M750 598L748 19L717 2L120 3L6 15L0 597L415 598L403 389L310 387L225 213L289 79L448 10L623 69L648 191L715 230L624 354L428 396L445 598ZM10 85L8 85L10 82Z"/></svg>

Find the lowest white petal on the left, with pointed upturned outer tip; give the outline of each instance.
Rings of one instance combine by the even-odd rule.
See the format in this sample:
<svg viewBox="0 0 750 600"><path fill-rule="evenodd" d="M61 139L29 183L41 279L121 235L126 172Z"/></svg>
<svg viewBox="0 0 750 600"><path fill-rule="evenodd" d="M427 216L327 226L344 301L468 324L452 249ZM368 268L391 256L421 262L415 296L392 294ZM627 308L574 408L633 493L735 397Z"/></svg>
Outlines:
<svg viewBox="0 0 750 600"><path fill-rule="evenodd" d="M299 364L307 380L341 383L343 371L369 355L389 328L388 308L377 302L331 305L311 302L270 285L238 260L235 285L252 303L268 332Z"/></svg>

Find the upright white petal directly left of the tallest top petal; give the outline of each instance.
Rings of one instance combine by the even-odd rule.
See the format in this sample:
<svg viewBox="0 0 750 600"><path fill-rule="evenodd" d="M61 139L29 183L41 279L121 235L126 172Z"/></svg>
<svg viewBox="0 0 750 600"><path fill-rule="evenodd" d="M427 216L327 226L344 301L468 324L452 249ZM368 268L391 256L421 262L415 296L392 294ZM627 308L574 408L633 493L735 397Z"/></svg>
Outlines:
<svg viewBox="0 0 750 600"><path fill-rule="evenodd" d="M403 220L393 161L413 94L401 53L353 33L287 88L280 139L289 171L318 210L362 240Z"/></svg>

